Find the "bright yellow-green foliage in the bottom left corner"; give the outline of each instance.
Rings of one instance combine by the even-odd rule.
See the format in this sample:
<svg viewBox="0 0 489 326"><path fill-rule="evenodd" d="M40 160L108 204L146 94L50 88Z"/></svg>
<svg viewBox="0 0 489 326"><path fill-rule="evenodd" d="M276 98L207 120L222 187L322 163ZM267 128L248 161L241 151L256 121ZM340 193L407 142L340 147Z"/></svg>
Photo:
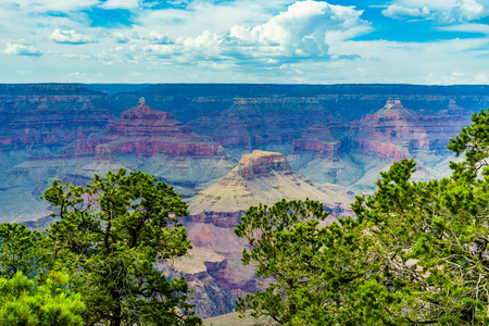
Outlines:
<svg viewBox="0 0 489 326"><path fill-rule="evenodd" d="M64 288L67 279L57 272L42 286L22 272L11 279L0 278L0 326L83 325L85 304L79 294Z"/></svg>

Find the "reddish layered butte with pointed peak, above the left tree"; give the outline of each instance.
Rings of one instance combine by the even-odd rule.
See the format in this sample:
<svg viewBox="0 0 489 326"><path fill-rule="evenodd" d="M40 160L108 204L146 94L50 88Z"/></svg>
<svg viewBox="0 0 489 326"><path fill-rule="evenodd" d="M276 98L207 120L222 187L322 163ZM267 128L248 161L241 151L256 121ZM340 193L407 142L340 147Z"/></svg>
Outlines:
<svg viewBox="0 0 489 326"><path fill-rule="evenodd" d="M103 130L72 142L64 153L92 156L76 172L82 176L121 167L141 170L184 188L187 196L197 185L222 177L235 165L221 145L192 133L172 113L149 108L143 98Z"/></svg>

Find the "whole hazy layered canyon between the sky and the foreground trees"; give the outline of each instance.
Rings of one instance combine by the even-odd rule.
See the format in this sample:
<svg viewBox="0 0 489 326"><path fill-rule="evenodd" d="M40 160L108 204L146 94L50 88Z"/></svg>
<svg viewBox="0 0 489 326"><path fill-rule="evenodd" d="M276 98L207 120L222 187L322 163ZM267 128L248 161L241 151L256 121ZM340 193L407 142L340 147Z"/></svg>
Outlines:
<svg viewBox="0 0 489 326"><path fill-rule="evenodd" d="M188 201L195 247L158 267L186 277L200 316L225 314L263 281L233 230L250 205L310 198L331 223L392 162L448 176L450 138L488 106L488 86L0 85L0 221L47 227L53 179L154 174Z"/></svg>

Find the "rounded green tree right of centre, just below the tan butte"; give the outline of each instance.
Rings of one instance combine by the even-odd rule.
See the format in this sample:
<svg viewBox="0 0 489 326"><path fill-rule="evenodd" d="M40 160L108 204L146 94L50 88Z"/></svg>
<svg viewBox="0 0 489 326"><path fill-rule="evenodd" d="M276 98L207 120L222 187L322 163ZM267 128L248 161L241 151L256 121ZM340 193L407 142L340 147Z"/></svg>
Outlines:
<svg viewBox="0 0 489 326"><path fill-rule="evenodd" d="M371 292L387 292L375 287L371 269L377 263L362 256L368 239L350 217L319 226L327 216L322 204L310 200L283 200L246 212L235 230L251 247L243 250L243 263L258 264L255 274L273 283L239 298L238 312L252 310L253 316L266 315L280 325L383 325L386 311L355 309L366 300L361 292L366 278L373 281Z"/></svg>

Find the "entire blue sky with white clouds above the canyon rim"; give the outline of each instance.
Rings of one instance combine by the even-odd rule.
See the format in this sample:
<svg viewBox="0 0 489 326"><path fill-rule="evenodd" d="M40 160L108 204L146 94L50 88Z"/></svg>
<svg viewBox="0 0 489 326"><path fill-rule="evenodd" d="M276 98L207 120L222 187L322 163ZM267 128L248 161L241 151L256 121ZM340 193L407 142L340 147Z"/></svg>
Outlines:
<svg viewBox="0 0 489 326"><path fill-rule="evenodd" d="M489 0L0 0L0 83L489 84Z"/></svg>

